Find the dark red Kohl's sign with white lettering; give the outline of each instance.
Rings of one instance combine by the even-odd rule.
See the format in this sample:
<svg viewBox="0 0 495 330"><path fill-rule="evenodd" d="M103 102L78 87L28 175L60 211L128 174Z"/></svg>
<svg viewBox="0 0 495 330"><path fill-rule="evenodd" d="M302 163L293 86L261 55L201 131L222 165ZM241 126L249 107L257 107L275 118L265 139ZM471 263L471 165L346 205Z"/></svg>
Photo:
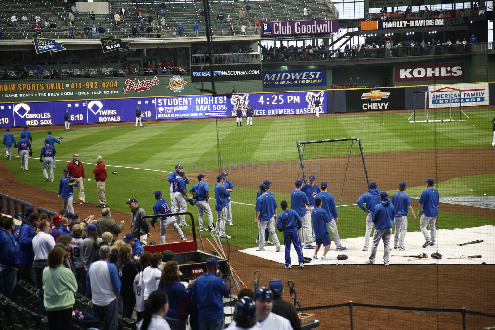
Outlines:
<svg viewBox="0 0 495 330"><path fill-rule="evenodd" d="M395 67L397 83L430 80L464 79L464 63L431 63Z"/></svg>

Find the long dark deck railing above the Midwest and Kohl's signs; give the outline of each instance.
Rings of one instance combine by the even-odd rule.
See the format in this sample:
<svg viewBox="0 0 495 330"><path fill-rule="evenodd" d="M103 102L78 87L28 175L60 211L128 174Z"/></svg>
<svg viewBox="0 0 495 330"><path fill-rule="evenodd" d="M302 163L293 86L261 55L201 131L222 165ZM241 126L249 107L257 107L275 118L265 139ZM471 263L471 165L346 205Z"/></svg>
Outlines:
<svg viewBox="0 0 495 330"><path fill-rule="evenodd" d="M454 55L465 53L493 52L493 43L465 45L439 45L418 47L337 49L329 51L283 51L261 54L262 62L297 62L297 61L341 61L370 58Z"/></svg>

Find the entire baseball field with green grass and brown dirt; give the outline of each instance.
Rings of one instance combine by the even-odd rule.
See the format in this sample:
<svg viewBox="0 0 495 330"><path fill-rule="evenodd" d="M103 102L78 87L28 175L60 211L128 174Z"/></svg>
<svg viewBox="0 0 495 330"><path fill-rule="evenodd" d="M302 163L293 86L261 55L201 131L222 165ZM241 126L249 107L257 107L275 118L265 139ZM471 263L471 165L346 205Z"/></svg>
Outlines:
<svg viewBox="0 0 495 330"><path fill-rule="evenodd" d="M86 178L86 200L98 204L96 183L92 170L97 156L102 156L107 167L106 197L108 206L116 213L130 214L125 204L134 197L148 211L154 203L153 191L160 189L168 199L169 186L166 178L181 164L191 185L197 182L198 173L206 174L210 186L210 197L214 198L215 177L220 172L228 173L227 179L234 185L232 193L233 223L226 232L231 263L241 278L252 282L252 271L262 270L261 284L278 277L283 281L293 280L300 285L299 300L303 306L318 306L344 303L348 300L383 305L460 308L485 313L494 313L495 278L493 265L423 265L386 267L370 266L314 266L304 270L283 269L282 264L238 253L238 249L254 247L257 227L254 225L254 203L257 186L267 179L273 182L270 190L277 202L287 199L297 178L302 177L297 141L342 139L359 137L362 143L369 181L375 181L382 191L393 193L398 183L405 181L407 192L417 197L425 188L425 180L435 179L440 196L458 198L458 203L439 207L437 229L470 228L494 225L495 209L466 204L469 200L483 198L493 201L495 196L495 148L493 138L494 109L463 108L469 116L467 121L408 123L410 112L378 112L346 115L322 114L254 117L250 127L236 127L235 119L217 121L173 121L162 123L144 122L143 128L134 123L117 125L52 127L54 137L63 136L56 144L57 168L55 182L44 182L38 155L47 135L47 129L33 129L33 151L29 171L21 171L19 158L0 160L24 187L17 191L18 198L28 200L35 206L40 200L51 199L50 207L58 211L62 204L56 198L58 180L62 169L79 153ZM243 118L243 124L245 124ZM12 130L16 139L19 130ZM16 154L16 152L14 153ZM306 176L314 175L316 184L328 183L328 190L338 201L338 228L341 238L364 235L364 213L355 205L360 194L367 191L367 180L357 143L326 142L307 145L304 149ZM117 170L117 174L111 174ZM191 187L188 186L188 190ZM32 186L33 189L25 187ZM16 189L16 187L11 187ZM42 190L40 190L42 189ZM2 189L3 190L3 189ZM21 197L19 197L19 195ZM74 193L77 198L77 193ZM24 198L22 198L24 197ZM99 209L80 205L76 200L75 211L86 217L98 213ZM210 205L213 209L214 200ZM480 205L481 205L480 204ZM490 203L489 203L490 204ZM54 206L53 206L54 205ZM58 206L56 206L58 205ZM490 206L490 205L489 205ZM417 200L413 200L417 211ZM97 210L97 211L95 211ZM188 205L188 211L197 219L197 209ZM115 217L114 217L115 218ZM119 218L120 219L120 218ZM127 219L126 219L126 226ZM216 220L216 216L214 216ZM189 220L187 220L189 222ZM419 221L409 218L409 232L419 231ZM187 229L185 230L188 236ZM209 233L202 233L209 237ZM158 240L158 229L152 237ZM167 236L168 237L168 236ZM188 236L190 237L190 235ZM282 238L282 235L279 235ZM465 237L465 241L476 237ZM406 238L407 240L407 238ZM461 243L461 242L459 242ZM205 247L208 251L209 247ZM488 250L487 250L488 249ZM433 249L431 251L433 252ZM352 251L346 251L351 254ZM480 253L493 253L492 248L480 244ZM331 250L335 258L337 251ZM381 250L378 252L378 258ZM376 287L376 285L383 285ZM457 284L458 286L455 286ZM483 287L483 289L482 289ZM417 291L417 288L421 288ZM300 292L302 291L302 292ZM383 292L382 292L383 291ZM288 295L286 297L288 299ZM348 310L315 311L323 325L336 329L348 328ZM379 319L370 318L377 311L362 309L355 312L355 329L461 329L460 315L446 318L447 314L422 312L383 312ZM397 318L400 322L396 323ZM468 316L470 329L495 325L495 320L486 317ZM421 319L421 321L418 321ZM383 320L383 321L382 321ZM357 322L357 324L356 324ZM411 328L411 322L419 322Z"/></svg>

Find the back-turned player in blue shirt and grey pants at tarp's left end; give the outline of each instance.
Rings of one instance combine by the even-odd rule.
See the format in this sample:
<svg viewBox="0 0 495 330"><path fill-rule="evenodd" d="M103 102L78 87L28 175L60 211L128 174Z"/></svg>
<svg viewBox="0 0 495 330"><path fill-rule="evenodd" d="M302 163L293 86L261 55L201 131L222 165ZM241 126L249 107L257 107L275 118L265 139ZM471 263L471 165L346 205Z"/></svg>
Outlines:
<svg viewBox="0 0 495 330"><path fill-rule="evenodd" d="M280 241L275 233L275 220L277 220L277 201L272 194L268 193L268 188L265 184L258 186L261 190L261 196L256 199L256 204L254 210L256 211L256 216L254 218L254 223L258 225L258 235L263 237L265 229L268 228L268 232L272 236L273 243L275 243L276 251L280 251ZM258 243L258 248L256 251L265 250L265 241L261 239Z"/></svg>

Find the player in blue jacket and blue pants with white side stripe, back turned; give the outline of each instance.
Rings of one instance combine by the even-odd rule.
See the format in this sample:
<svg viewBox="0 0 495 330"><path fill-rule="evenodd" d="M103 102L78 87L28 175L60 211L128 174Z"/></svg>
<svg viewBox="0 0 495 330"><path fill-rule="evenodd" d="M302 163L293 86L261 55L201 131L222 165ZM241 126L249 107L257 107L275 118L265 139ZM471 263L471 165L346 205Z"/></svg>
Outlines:
<svg viewBox="0 0 495 330"><path fill-rule="evenodd" d="M277 217L277 229L284 233L285 268L291 268L291 241L297 252L297 262L300 268L304 268L304 256L302 255L301 242L297 230L302 227L301 217L294 210L288 210L287 201L280 202L282 213Z"/></svg>

